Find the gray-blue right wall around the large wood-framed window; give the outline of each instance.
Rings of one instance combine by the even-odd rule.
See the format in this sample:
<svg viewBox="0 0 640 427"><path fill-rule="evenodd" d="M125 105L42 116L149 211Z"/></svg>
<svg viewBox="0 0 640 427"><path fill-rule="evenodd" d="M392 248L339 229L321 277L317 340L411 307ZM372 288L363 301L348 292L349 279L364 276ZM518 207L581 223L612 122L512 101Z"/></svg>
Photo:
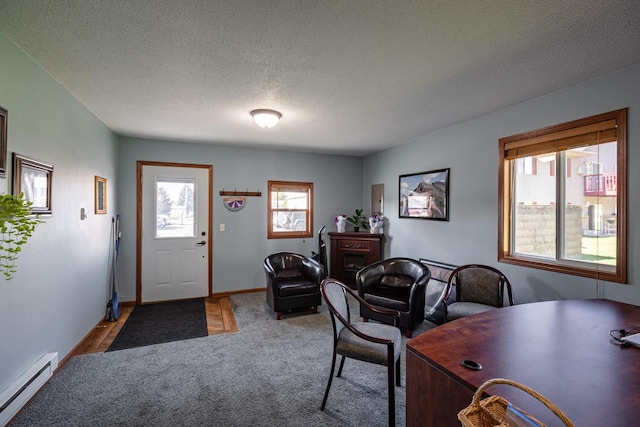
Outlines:
<svg viewBox="0 0 640 427"><path fill-rule="evenodd" d="M640 64L425 135L365 159L364 188L385 184L390 256L503 270L516 302L603 297L640 305ZM498 139L628 107L628 281L597 282L497 262ZM449 222L398 218L398 176L451 168ZM364 205L369 194L364 192Z"/></svg>

